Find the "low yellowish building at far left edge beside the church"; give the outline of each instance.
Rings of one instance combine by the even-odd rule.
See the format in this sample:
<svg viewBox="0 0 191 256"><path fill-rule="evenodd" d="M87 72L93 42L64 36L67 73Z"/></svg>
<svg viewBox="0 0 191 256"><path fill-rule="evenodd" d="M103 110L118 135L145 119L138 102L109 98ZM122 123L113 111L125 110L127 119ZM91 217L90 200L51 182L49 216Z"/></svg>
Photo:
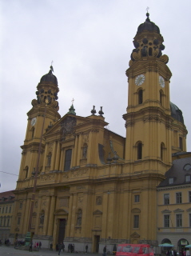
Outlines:
<svg viewBox="0 0 191 256"><path fill-rule="evenodd" d="M0 240L2 243L10 235L10 225L14 213L14 198L13 191L0 193Z"/></svg>

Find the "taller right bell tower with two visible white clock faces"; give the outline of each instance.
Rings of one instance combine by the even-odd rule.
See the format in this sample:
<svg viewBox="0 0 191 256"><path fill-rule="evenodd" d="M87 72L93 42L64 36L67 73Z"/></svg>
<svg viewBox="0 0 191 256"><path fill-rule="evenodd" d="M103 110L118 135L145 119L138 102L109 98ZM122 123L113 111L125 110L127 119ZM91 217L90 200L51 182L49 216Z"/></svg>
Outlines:
<svg viewBox="0 0 191 256"><path fill-rule="evenodd" d="M154 170L165 174L172 162L172 132L169 102L169 79L172 74L162 55L163 38L149 19L138 26L134 49L126 75L129 82L125 160L139 170ZM136 168L131 168L131 172Z"/></svg>

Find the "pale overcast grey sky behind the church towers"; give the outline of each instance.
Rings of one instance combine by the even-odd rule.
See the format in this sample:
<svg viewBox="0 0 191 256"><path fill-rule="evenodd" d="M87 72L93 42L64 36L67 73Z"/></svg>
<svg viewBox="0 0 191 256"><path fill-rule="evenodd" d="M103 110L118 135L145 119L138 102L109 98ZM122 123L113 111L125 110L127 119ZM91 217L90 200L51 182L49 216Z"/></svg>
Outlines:
<svg viewBox="0 0 191 256"><path fill-rule="evenodd" d="M26 113L52 61L61 116L73 98L79 116L103 106L109 130L125 137L125 70L147 6L164 38L170 100L183 112L191 151L190 0L0 0L0 192L16 188Z"/></svg>

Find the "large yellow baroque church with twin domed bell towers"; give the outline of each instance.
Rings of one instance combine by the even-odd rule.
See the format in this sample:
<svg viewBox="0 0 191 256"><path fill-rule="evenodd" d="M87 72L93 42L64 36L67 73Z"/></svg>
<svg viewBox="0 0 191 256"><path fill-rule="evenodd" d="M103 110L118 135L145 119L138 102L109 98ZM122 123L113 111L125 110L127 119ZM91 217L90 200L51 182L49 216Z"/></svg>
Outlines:
<svg viewBox="0 0 191 256"><path fill-rule="evenodd" d="M102 252L106 244L112 251L120 242L157 246L157 186L172 166L172 154L186 151L187 134L181 110L169 102L172 74L162 43L147 14L126 70L125 138L105 128L102 109L97 115L93 107L81 117L72 105L61 118L52 67L42 76L27 113L12 241L15 233L24 238L30 231L42 246L64 240L75 250L88 245Z"/></svg>

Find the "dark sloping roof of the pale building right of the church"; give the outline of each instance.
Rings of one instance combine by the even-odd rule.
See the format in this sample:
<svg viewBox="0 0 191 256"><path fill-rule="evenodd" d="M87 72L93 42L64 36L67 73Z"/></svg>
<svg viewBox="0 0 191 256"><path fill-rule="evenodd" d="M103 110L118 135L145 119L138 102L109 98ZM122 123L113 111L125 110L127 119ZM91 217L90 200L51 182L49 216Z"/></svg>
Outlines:
<svg viewBox="0 0 191 256"><path fill-rule="evenodd" d="M173 161L173 166L165 173L165 180L158 187L191 184L185 181L185 176L191 176L191 158L180 158ZM171 178L171 182L169 182Z"/></svg>

